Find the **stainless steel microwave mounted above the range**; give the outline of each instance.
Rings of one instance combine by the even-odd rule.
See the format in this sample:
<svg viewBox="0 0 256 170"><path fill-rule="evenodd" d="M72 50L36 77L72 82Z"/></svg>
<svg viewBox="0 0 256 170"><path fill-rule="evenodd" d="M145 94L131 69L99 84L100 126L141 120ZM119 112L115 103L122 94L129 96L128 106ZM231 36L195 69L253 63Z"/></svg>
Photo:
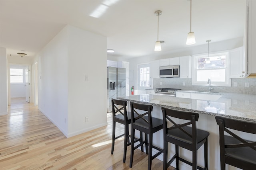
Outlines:
<svg viewBox="0 0 256 170"><path fill-rule="evenodd" d="M180 66L160 66L159 67L160 77L180 77Z"/></svg>

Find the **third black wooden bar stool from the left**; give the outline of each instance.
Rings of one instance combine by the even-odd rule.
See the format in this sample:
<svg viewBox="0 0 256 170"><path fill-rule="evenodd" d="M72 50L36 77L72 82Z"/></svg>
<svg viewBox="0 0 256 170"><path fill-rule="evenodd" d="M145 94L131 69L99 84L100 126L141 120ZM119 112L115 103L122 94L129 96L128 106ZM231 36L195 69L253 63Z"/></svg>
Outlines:
<svg viewBox="0 0 256 170"><path fill-rule="evenodd" d="M192 166L192 170L208 170L208 136L209 132L196 129L199 114L162 107L164 120L164 170L176 159L176 169L179 170L179 160ZM187 120L183 124L175 123ZM173 125L171 126L170 123ZM192 127L188 126L192 125ZM175 145L175 155L168 161L168 142ZM204 144L204 168L197 165L197 150ZM179 156L179 147L192 151L192 162Z"/></svg>

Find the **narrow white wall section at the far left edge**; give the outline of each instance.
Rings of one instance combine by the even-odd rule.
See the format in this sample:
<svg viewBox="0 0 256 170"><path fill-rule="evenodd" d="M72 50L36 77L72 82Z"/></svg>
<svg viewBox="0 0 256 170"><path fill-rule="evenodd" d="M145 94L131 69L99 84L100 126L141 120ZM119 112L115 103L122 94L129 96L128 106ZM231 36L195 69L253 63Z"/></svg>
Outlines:
<svg viewBox="0 0 256 170"><path fill-rule="evenodd" d="M0 115L7 115L7 80L6 48L0 47Z"/></svg>

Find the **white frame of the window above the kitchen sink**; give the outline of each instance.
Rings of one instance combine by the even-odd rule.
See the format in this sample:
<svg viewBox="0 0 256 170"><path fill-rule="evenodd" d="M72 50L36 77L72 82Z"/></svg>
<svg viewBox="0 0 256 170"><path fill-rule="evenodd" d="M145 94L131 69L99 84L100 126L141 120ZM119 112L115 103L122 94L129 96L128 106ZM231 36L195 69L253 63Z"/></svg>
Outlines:
<svg viewBox="0 0 256 170"><path fill-rule="evenodd" d="M226 68L212 68L212 69L206 68L204 70L225 69L225 82L211 81L211 86L230 87L231 86L231 79L229 78L229 72L230 72L230 69L229 69L230 68L229 51L218 51L218 52L209 53L209 57L215 57L217 55L226 55ZM203 81L203 82L197 81L197 70L203 70L203 69L197 69L197 60L198 60L198 58L202 58L202 57L207 58L208 53L192 55L192 86L209 86L209 84L207 84L208 78L206 78L206 81Z"/></svg>

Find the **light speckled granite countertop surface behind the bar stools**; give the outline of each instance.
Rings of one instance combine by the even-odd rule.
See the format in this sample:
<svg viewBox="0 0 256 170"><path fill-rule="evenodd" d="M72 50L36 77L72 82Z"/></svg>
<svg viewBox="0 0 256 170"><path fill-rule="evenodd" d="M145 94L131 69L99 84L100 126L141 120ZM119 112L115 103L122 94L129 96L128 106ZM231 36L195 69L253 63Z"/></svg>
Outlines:
<svg viewBox="0 0 256 170"><path fill-rule="evenodd" d="M151 104L153 106L169 107L184 111L196 111L207 115L223 115L235 119L256 122L256 95L254 94L237 94L237 93L217 93L209 96L208 93L198 93L187 90L179 92L206 94L204 100L191 98L177 98L166 95L141 94L126 97L118 97L121 100L138 102L142 104ZM193 94L193 95L194 95ZM199 95L199 97L200 97ZM219 96L217 96L219 95ZM201 95L202 96L202 95ZM208 98L217 97L217 98Z"/></svg>

